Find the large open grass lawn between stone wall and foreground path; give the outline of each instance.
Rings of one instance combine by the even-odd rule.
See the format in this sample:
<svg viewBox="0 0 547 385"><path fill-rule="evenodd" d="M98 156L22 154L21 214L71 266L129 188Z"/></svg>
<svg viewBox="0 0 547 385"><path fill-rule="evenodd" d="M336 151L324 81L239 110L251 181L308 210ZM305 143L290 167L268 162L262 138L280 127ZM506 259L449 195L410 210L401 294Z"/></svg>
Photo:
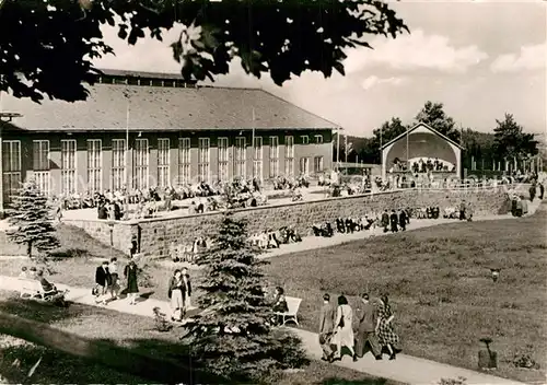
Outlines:
<svg viewBox="0 0 547 385"><path fill-rule="evenodd" d="M454 223L286 255L266 267L270 281L303 299L303 328L316 331L323 293L387 293L404 352L477 369L480 338L498 351L496 374L545 382L515 369L517 350L544 365L547 354L545 206L529 218ZM493 283L490 268L501 268ZM529 348L526 348L529 346Z"/></svg>

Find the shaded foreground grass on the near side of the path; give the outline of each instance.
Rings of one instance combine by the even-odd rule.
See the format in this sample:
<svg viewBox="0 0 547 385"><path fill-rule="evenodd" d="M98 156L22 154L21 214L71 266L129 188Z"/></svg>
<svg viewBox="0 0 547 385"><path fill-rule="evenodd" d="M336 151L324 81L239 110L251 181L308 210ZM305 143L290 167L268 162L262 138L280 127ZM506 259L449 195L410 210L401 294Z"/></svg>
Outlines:
<svg viewBox="0 0 547 385"><path fill-rule="evenodd" d="M177 331L161 334L154 330L152 318L118 313L100 307L72 304L68 310L22 301L13 293L0 291L0 311L47 323L80 336L107 341L129 351L146 352L156 358L174 359L181 346ZM16 343L19 342L19 343ZM26 382L28 370L43 357L31 378L40 384L144 384L149 380L120 373L70 354L60 353L20 340L0 336L0 373L12 383ZM19 360L19 365L13 362ZM395 382L371 378L366 374L323 362L295 373L283 373L276 384L362 384L398 385Z"/></svg>

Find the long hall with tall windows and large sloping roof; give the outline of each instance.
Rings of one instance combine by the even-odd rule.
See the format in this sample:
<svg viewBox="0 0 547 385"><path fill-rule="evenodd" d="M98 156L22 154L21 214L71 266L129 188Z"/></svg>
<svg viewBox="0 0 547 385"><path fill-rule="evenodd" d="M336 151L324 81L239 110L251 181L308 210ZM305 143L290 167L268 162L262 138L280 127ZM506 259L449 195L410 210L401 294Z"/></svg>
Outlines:
<svg viewBox="0 0 547 385"><path fill-rule="evenodd" d="M21 117L0 122L0 203L31 176L70 195L331 167L337 125L264 90L120 71L89 89L75 103L3 95L2 110Z"/></svg>

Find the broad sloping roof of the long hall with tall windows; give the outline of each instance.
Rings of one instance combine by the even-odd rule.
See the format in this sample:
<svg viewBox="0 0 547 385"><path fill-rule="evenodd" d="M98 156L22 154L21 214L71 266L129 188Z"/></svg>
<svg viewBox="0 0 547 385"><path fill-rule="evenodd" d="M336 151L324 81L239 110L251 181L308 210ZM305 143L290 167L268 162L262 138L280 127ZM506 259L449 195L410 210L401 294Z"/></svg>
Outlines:
<svg viewBox="0 0 547 385"><path fill-rule="evenodd" d="M20 113L13 124L27 130L126 129L335 129L338 126L260 89L162 88L125 84L89 86L85 102L45 100L35 104L10 95L2 109ZM128 95L126 98L125 95ZM253 122L253 108L255 122Z"/></svg>

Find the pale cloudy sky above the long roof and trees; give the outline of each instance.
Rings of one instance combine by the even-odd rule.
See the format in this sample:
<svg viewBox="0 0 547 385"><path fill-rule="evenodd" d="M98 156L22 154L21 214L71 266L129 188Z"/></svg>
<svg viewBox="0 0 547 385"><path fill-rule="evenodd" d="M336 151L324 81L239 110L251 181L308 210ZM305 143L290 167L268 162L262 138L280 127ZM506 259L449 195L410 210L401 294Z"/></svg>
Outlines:
<svg viewBox="0 0 547 385"><path fill-rule="evenodd" d="M348 50L346 77L310 72L280 88L269 77L247 75L234 61L214 85L263 88L361 137L392 117L412 122L427 101L443 103L464 128L489 132L510 113L526 131L547 130L545 2L403 0L392 7L410 34L372 37L374 49ZM168 47L179 32L130 47L105 27L116 56L95 65L179 72Z"/></svg>

